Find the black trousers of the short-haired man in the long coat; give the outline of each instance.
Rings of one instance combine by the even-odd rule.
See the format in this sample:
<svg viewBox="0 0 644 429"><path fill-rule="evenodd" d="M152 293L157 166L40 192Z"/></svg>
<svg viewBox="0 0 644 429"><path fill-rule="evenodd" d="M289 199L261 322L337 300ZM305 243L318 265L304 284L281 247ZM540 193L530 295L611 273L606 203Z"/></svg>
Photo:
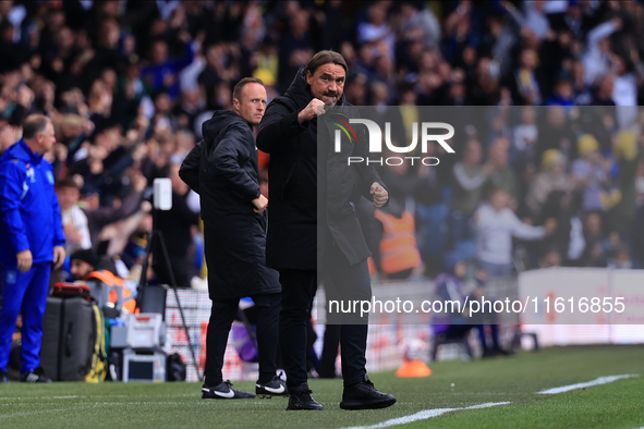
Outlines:
<svg viewBox="0 0 644 429"><path fill-rule="evenodd" d="M259 382L266 383L276 375L279 338L279 293L251 296L257 315L257 353ZM232 321L239 310L239 299L214 301L206 336L206 384L215 387L223 381L221 368Z"/></svg>

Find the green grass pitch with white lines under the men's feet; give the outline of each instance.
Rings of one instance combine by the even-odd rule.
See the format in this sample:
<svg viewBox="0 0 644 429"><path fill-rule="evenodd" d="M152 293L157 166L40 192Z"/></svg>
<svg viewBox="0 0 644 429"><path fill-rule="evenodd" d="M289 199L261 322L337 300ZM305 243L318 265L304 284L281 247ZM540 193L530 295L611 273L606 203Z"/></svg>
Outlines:
<svg viewBox="0 0 644 429"><path fill-rule="evenodd" d="M204 401L197 383L0 384L0 428L347 428L368 427L438 408L454 409L396 428L629 428L644 427L644 345L550 347L490 360L433 363L434 373L399 379L372 373L398 403L386 409L339 408L341 380L311 380L324 412L285 412L283 397ZM543 395L535 392L640 375L616 382ZM453 384L453 385L452 385ZM253 382L235 388L254 391Z"/></svg>

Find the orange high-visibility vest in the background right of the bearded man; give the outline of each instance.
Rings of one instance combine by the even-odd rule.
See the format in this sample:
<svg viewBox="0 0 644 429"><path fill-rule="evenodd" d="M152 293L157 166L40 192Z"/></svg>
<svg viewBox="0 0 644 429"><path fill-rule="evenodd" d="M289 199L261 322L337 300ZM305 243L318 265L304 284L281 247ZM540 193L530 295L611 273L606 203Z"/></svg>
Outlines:
<svg viewBox="0 0 644 429"><path fill-rule="evenodd" d="M403 211L398 219L393 214L376 210L376 219L382 222L385 235L380 242L380 266L386 274L418 267L421 253L416 247L414 217Z"/></svg>

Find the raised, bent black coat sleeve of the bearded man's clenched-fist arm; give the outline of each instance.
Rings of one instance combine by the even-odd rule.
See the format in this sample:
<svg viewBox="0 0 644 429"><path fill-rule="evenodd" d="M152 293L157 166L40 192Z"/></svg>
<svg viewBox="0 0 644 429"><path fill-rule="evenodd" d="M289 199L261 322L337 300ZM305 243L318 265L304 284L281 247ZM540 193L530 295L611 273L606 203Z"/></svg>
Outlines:
<svg viewBox="0 0 644 429"><path fill-rule="evenodd" d="M257 130L257 148L266 154L288 150L288 143L308 126L308 122L297 121L299 113L281 102L271 102Z"/></svg>

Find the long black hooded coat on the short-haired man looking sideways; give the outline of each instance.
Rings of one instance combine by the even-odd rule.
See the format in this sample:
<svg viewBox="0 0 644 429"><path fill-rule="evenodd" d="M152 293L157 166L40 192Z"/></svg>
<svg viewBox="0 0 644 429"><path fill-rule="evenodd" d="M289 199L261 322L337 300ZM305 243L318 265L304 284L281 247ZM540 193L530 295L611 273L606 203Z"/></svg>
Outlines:
<svg viewBox="0 0 644 429"><path fill-rule="evenodd" d="M210 297L278 293L277 272L266 267L266 212L252 203L260 195L253 131L236 113L218 111L203 135L179 175L201 196Z"/></svg>

